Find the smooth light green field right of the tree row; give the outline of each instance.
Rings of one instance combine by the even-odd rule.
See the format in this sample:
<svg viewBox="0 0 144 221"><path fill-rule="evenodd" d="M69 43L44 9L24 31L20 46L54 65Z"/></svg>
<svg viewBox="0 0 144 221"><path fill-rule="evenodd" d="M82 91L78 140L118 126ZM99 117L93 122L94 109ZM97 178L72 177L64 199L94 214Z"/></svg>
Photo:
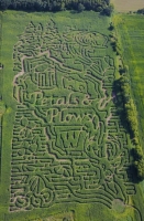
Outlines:
<svg viewBox="0 0 144 221"><path fill-rule="evenodd" d="M113 18L122 48L123 60L129 65L131 88L137 109L140 138L144 150L144 21L141 15L117 14ZM144 193L144 181L141 182ZM139 203L140 197L135 199Z"/></svg>

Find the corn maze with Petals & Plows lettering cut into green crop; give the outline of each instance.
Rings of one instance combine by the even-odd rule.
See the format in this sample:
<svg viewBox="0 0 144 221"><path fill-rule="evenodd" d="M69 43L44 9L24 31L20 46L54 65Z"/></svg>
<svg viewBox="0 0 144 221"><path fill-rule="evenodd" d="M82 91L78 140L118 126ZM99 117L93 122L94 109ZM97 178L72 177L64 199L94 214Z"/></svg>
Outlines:
<svg viewBox="0 0 144 221"><path fill-rule="evenodd" d="M112 207L135 194L112 90L109 39L31 22L13 48L16 113L10 211L64 202Z"/></svg>

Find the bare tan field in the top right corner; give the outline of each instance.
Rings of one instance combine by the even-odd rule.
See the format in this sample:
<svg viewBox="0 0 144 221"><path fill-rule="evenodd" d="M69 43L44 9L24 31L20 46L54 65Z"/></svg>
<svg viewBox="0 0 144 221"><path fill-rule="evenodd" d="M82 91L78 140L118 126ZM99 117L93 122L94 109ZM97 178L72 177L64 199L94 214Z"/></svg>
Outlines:
<svg viewBox="0 0 144 221"><path fill-rule="evenodd" d="M111 0L118 12L137 11L144 8L144 0Z"/></svg>

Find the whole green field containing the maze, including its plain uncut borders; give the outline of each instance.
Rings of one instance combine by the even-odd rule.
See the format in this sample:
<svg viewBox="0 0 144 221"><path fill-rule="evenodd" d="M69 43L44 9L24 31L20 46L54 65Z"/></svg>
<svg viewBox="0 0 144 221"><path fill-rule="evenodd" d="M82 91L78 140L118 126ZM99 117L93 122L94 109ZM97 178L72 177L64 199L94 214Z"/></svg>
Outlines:
<svg viewBox="0 0 144 221"><path fill-rule="evenodd" d="M1 12L1 221L144 220L110 22Z"/></svg>

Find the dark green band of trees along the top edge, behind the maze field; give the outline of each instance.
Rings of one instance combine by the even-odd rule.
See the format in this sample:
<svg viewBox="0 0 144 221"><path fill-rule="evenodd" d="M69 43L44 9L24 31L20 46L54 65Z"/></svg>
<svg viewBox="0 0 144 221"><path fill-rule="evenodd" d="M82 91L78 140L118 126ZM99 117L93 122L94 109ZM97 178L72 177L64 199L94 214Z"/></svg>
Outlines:
<svg viewBox="0 0 144 221"><path fill-rule="evenodd" d="M113 4L110 0L0 0L0 10L64 11L93 10L111 15Z"/></svg>

